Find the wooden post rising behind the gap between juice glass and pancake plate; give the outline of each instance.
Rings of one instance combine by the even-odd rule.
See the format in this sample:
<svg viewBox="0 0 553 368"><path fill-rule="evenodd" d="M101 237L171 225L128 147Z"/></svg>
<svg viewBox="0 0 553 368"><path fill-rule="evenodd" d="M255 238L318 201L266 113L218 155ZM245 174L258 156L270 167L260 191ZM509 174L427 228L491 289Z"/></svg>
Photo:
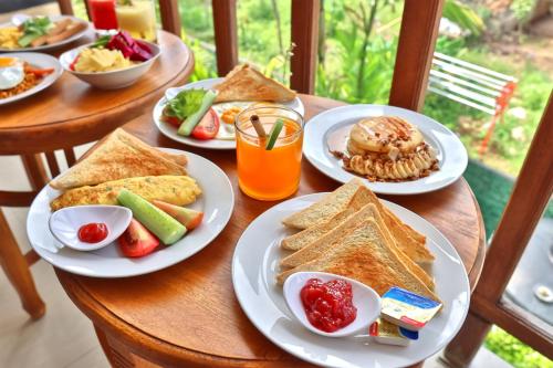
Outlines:
<svg viewBox="0 0 553 368"><path fill-rule="evenodd" d="M292 42L290 86L300 93L313 94L319 45L320 0L292 0Z"/></svg>

